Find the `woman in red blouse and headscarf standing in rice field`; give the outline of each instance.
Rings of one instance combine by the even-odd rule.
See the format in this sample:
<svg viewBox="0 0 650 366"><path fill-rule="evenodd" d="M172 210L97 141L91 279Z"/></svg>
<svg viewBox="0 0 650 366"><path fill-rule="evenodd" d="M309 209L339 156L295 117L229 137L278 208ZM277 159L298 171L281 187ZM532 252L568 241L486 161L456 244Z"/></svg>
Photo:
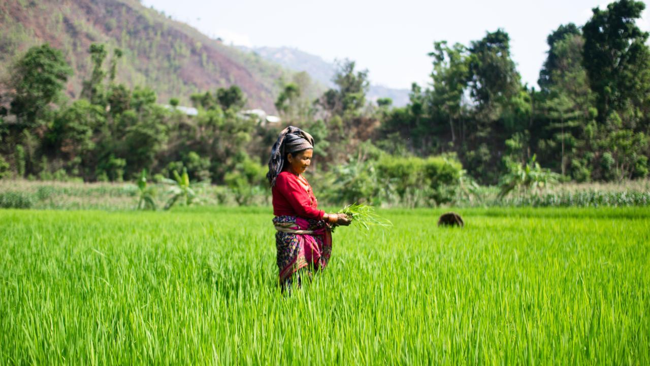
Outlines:
<svg viewBox="0 0 650 366"><path fill-rule="evenodd" d="M350 225L345 214L326 214L309 182L302 176L311 163L314 139L300 128L289 126L280 132L268 161L268 182L273 193L273 223L279 283L284 290L294 274L306 267L325 268L331 254L331 225ZM301 271L302 272L302 271ZM300 276L297 277L300 287Z"/></svg>

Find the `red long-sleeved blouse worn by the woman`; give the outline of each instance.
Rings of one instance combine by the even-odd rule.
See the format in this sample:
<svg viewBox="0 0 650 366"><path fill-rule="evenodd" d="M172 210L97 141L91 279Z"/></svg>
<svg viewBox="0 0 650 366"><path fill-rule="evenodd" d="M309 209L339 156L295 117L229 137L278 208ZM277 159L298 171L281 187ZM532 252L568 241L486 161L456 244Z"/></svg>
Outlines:
<svg viewBox="0 0 650 366"><path fill-rule="evenodd" d="M275 216L298 216L305 219L322 219L324 211L318 210L318 201L309 182L301 175L288 171L279 173L273 194Z"/></svg>

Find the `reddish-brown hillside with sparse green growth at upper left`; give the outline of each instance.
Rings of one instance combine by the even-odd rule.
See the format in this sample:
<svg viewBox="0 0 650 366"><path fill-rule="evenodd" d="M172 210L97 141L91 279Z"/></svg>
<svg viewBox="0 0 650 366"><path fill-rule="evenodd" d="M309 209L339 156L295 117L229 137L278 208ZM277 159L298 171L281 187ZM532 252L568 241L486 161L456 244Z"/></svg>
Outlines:
<svg viewBox="0 0 650 366"><path fill-rule="evenodd" d="M192 92L237 84L249 107L274 111L276 80L289 76L259 55L226 46L135 0L3 0L0 33L0 77L6 79L17 55L49 42L75 70L67 87L72 97L79 95L81 80L90 73L88 48L93 42L107 44L111 54L121 48L118 81L148 85L160 102L177 97L189 104Z"/></svg>

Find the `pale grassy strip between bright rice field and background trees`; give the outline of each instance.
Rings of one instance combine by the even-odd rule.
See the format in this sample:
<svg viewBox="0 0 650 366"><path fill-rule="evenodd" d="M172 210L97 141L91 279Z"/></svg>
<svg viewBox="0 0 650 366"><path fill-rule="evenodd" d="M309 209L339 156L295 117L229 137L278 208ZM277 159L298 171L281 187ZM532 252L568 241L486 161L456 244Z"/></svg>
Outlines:
<svg viewBox="0 0 650 366"><path fill-rule="evenodd" d="M161 209L171 197L170 185L152 184L153 199ZM198 206L270 206L270 190L254 186L249 190L233 190L211 184L192 185L197 193ZM319 202L327 206L328 186L318 188ZM36 208L54 210L135 210L140 193L132 182L83 183L40 180L0 180L0 208ZM335 196L335 194L329 194ZM391 197L380 206L413 208L422 206L417 194L401 200ZM424 204L426 207L426 204ZM456 190L451 207L626 207L650 206L650 180L632 180L622 183L565 183L544 190L528 191L499 198L496 186L462 187Z"/></svg>

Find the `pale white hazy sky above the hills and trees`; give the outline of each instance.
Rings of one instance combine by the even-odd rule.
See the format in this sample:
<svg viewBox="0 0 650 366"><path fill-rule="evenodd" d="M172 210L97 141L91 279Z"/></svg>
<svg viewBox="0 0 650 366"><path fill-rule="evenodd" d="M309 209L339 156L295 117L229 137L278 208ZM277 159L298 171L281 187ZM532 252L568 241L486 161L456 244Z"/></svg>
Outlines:
<svg viewBox="0 0 650 366"><path fill-rule="evenodd" d="M409 88L428 83L433 42L469 44L486 31L510 34L523 81L537 85L546 37L560 24L577 25L603 0L142 0L206 35L244 46L289 46L323 57L345 57L369 70L372 83ZM650 31L650 12L638 25Z"/></svg>

